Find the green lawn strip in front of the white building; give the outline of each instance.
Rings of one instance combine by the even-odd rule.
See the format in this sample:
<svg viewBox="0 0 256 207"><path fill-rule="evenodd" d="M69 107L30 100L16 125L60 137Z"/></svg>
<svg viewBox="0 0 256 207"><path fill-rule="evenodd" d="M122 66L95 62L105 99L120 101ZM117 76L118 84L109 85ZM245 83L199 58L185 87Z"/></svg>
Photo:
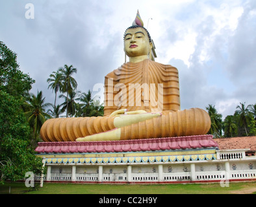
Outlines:
<svg viewBox="0 0 256 207"><path fill-rule="evenodd" d="M25 182L0 184L0 194L227 194L256 193L256 182L231 182L222 188L214 184L57 184L44 183L43 188L29 191Z"/></svg>

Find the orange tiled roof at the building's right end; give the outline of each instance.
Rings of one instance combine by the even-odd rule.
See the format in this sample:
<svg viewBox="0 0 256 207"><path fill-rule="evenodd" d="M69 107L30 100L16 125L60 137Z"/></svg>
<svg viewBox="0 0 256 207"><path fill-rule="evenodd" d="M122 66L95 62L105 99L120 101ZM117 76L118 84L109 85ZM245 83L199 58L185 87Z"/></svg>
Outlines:
<svg viewBox="0 0 256 207"><path fill-rule="evenodd" d="M256 136L243 136L232 138L214 138L219 149L250 149L256 150Z"/></svg>

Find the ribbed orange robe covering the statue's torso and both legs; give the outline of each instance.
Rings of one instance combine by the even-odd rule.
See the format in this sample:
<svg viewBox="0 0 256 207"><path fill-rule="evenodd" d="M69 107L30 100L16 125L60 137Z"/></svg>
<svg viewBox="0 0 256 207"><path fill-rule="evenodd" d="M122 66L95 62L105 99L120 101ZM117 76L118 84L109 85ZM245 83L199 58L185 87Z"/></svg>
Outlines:
<svg viewBox="0 0 256 207"><path fill-rule="evenodd" d="M151 60L124 63L105 76L104 116L53 118L41 129L44 141L75 141L103 133L114 126L118 109L161 112L162 116L121 127L121 140L171 136L205 135L211 127L202 109L180 111L179 74L175 67Z"/></svg>

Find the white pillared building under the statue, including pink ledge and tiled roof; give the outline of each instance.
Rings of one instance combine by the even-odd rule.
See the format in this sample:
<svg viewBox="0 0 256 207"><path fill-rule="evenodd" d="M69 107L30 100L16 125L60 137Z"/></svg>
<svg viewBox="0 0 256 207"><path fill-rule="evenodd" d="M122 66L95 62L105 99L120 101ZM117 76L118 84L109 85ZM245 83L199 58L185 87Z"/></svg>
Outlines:
<svg viewBox="0 0 256 207"><path fill-rule="evenodd" d="M36 151L47 166L46 182L256 180L256 136L213 140L211 135L201 135L114 142L42 142Z"/></svg>

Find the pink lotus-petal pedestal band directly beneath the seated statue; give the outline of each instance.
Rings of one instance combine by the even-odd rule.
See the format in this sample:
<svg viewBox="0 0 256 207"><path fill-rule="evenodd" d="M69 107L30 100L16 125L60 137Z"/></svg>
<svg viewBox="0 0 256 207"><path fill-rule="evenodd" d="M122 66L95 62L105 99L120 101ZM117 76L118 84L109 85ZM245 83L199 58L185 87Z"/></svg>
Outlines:
<svg viewBox="0 0 256 207"><path fill-rule="evenodd" d="M39 142L37 153L120 153L218 147L212 135L98 142Z"/></svg>

